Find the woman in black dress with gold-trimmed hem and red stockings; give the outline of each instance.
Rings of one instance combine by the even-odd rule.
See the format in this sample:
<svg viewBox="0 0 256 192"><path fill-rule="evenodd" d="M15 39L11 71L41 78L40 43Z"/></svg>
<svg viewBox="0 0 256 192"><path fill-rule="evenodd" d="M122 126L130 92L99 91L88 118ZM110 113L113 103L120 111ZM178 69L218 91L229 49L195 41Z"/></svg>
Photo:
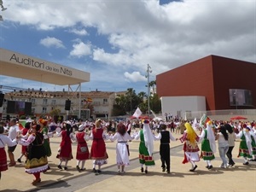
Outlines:
<svg viewBox="0 0 256 192"><path fill-rule="evenodd" d="M32 131L29 137L21 139L20 145L27 146L27 160L25 172L33 174L36 178L32 184L41 182L40 172L46 172L48 169L48 160L44 148L44 136L40 132L40 125L32 125ZM27 135L26 135L27 136Z"/></svg>

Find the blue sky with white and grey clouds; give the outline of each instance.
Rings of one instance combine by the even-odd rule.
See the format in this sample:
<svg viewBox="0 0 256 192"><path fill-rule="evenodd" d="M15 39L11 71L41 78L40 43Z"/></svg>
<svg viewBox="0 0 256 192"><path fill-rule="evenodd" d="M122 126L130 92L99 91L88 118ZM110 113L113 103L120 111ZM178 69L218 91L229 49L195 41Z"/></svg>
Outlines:
<svg viewBox="0 0 256 192"><path fill-rule="evenodd" d="M3 0L0 47L90 73L82 90L147 92L207 55L256 62L255 0ZM0 75L0 85L67 86Z"/></svg>

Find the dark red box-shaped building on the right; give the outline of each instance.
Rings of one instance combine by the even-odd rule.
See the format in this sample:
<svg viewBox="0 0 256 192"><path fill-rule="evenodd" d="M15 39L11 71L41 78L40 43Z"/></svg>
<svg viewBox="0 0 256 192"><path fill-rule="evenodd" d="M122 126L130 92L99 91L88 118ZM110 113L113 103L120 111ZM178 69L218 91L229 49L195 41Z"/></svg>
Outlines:
<svg viewBox="0 0 256 192"><path fill-rule="evenodd" d="M255 108L256 79L253 79L255 74L254 63L209 55L157 75L157 94L206 96L207 110L221 110L234 108L230 107L229 89L251 90ZM247 78L244 78L244 75Z"/></svg>

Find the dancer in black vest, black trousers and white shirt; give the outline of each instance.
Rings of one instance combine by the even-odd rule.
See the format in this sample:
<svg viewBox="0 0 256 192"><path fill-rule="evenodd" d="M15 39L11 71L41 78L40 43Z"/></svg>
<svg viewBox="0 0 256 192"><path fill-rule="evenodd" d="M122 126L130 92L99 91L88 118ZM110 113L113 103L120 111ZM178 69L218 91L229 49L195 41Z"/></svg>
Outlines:
<svg viewBox="0 0 256 192"><path fill-rule="evenodd" d="M162 163L162 172L171 172L170 168L170 140L177 141L170 131L166 130L167 125L160 125L160 133L155 137L155 140L160 140L160 160Z"/></svg>

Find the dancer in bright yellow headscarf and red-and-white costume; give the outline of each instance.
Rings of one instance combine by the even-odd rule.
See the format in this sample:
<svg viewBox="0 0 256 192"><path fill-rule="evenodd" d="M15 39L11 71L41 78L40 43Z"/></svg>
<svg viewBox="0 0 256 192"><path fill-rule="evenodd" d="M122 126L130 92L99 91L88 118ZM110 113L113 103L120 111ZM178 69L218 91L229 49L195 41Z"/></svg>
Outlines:
<svg viewBox="0 0 256 192"><path fill-rule="evenodd" d="M186 130L183 133L183 137L180 137L179 140L183 143L183 151L184 151L184 160L183 164L190 162L192 164L192 168L189 172L195 172L197 166L195 162L200 161L200 157L198 152L200 149L198 148L197 143L199 142L199 137L195 133L195 130L189 123L185 123Z"/></svg>

